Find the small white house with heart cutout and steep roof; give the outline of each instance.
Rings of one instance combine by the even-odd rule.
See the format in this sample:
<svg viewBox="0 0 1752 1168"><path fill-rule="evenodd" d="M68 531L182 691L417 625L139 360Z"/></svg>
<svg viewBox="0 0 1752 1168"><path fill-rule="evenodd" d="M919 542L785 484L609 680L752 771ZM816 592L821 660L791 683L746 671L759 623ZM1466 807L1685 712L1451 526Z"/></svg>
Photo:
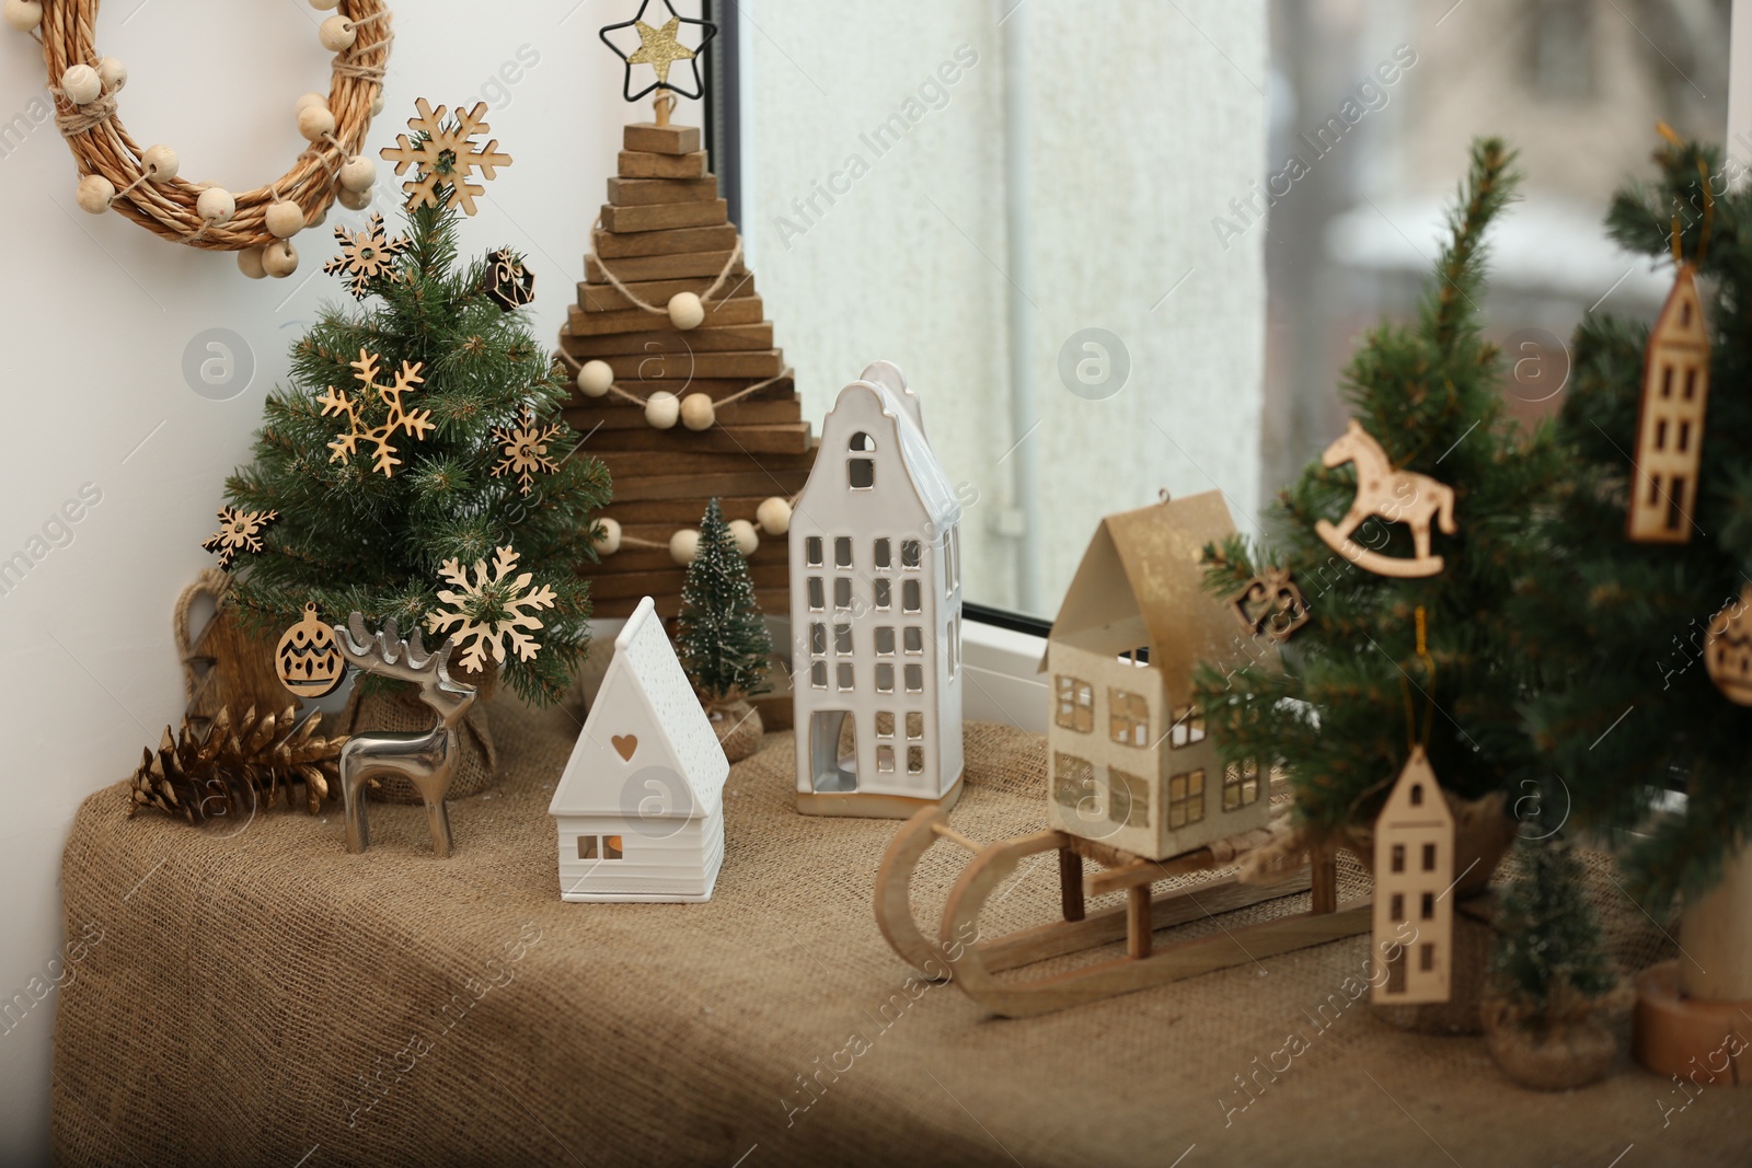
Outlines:
<svg viewBox="0 0 1752 1168"><path fill-rule="evenodd" d="M548 814L562 900L710 900L724 863L731 763L650 597L571 749Z"/></svg>

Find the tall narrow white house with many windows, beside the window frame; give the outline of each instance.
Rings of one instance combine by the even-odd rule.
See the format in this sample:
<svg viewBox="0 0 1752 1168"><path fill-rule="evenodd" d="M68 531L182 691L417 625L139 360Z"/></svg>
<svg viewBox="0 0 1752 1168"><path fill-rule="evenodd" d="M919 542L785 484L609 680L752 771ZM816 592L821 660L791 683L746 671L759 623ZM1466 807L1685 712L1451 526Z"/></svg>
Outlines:
<svg viewBox="0 0 1752 1168"><path fill-rule="evenodd" d="M962 506L918 398L839 392L790 524L797 811L908 818L962 781Z"/></svg>

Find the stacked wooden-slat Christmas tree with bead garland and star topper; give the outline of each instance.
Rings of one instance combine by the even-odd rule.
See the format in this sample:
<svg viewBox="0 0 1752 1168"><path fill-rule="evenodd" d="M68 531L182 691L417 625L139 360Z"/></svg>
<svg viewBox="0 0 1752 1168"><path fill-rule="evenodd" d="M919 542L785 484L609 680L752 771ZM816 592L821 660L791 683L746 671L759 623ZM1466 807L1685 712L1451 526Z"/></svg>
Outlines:
<svg viewBox="0 0 1752 1168"><path fill-rule="evenodd" d="M788 613L788 503L815 462L699 128L669 124L671 91L697 96L668 81L673 61L690 61L697 82L699 49L676 42L680 25L694 23L671 14L661 28L634 19L603 30L629 63L629 89L638 63L653 65L659 81L655 121L625 128L559 338L578 385L566 419L589 434L583 450L615 483L604 511L615 524L590 569L597 616L627 616L645 595L661 616L680 611L689 536L710 497L741 529L743 548L757 543L746 559L760 609ZM631 54L610 37L627 26L639 33Z"/></svg>

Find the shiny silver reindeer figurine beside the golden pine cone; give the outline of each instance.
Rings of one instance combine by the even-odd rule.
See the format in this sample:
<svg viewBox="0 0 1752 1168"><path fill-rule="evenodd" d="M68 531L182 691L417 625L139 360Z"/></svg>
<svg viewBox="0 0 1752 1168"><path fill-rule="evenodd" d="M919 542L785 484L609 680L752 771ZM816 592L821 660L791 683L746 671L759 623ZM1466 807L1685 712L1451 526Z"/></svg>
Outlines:
<svg viewBox="0 0 1752 1168"><path fill-rule="evenodd" d="M450 637L436 653L420 646L420 630L403 641L396 622L385 622L375 637L364 632L364 616L354 613L349 629L335 625L342 657L364 672L413 681L420 700L438 713L438 725L426 734L380 730L354 734L340 749L340 790L347 807L347 851L371 846L371 828L364 820L364 783L378 776L406 776L426 802L433 851L440 860L450 855L450 811L443 797L456 769L456 725L475 704L475 686L450 679Z"/></svg>

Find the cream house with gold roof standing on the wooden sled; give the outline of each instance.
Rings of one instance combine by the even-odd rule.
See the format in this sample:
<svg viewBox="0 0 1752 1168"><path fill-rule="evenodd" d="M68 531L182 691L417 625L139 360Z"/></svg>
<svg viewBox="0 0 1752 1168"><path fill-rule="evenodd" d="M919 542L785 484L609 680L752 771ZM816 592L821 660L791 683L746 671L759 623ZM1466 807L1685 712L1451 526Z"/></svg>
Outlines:
<svg viewBox="0 0 1752 1168"><path fill-rule="evenodd" d="M1270 777L1225 765L1193 704L1193 667L1232 657L1239 639L1200 562L1233 531L1216 490L1100 522L1041 665L1048 827L1163 860L1267 825ZM1275 646L1256 653L1275 667Z"/></svg>

